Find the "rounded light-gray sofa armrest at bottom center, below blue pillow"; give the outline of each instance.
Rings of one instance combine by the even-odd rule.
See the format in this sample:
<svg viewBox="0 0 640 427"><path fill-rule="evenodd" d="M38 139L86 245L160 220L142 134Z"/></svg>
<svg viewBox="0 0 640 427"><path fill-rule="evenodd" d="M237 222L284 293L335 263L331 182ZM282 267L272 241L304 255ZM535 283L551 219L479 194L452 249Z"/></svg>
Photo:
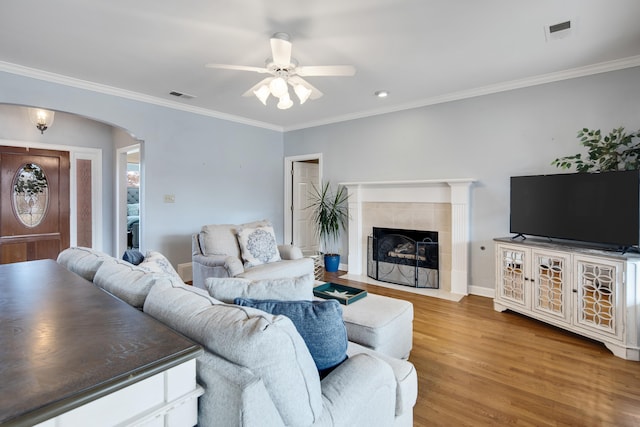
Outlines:
<svg viewBox="0 0 640 427"><path fill-rule="evenodd" d="M391 367L369 355L357 354L322 380L323 419L340 425L393 425L396 380Z"/></svg>

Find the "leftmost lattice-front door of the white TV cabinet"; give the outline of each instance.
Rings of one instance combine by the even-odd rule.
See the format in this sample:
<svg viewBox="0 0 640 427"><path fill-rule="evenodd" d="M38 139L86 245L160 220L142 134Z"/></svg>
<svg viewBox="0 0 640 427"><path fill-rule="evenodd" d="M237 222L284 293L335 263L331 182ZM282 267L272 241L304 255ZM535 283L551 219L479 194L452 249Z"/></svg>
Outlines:
<svg viewBox="0 0 640 427"><path fill-rule="evenodd" d="M530 307L529 277L526 260L531 252L527 249L498 245L496 247L498 265L498 300L513 302L523 307Z"/></svg>

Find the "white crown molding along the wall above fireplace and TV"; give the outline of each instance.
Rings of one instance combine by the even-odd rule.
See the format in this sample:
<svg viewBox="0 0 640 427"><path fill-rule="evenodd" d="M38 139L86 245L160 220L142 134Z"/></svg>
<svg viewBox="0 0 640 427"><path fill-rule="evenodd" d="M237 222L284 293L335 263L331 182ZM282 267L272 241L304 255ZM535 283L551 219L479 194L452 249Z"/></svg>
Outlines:
<svg viewBox="0 0 640 427"><path fill-rule="evenodd" d="M547 83L559 82L562 80L575 79L579 77L591 76L594 74L608 73L610 71L623 70L625 68L633 68L640 66L640 55L630 56L628 58L617 59L614 61L600 62L597 64L587 65L584 67L571 68L568 70L557 71L548 74L540 74L537 76L526 77L524 79L511 80L508 82L497 83L488 86L481 86L469 90L451 92L444 95L426 98L420 101L395 105L388 108L364 111L356 114L347 114L344 116L333 117L331 119L315 122L302 123L297 126L285 127L284 131L293 131L307 129L328 124L346 122L349 120L363 119L366 117L377 116L381 114L395 113L398 111L410 110L414 108L427 107L430 105L444 104L446 102L459 101L462 99L475 98L478 96L491 95L499 92L506 92L514 89L522 89L531 86L538 86Z"/></svg>

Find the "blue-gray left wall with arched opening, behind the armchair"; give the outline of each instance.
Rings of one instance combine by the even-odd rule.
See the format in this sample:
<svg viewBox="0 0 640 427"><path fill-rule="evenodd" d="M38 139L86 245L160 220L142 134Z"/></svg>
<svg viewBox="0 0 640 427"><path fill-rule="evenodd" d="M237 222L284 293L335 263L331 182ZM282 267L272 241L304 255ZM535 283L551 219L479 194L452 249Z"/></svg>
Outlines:
<svg viewBox="0 0 640 427"><path fill-rule="evenodd" d="M280 240L283 233L282 133L212 117L151 105L84 89L0 72L0 103L31 105L70 113L124 129L144 141L143 179L146 183L143 217L144 249L167 255L175 265L191 260L192 233L204 224L244 222L268 218ZM3 123L0 110L0 126ZM65 116L44 137L60 144L96 142L94 129L65 131ZM72 116L73 117L73 116ZM11 122L11 118L4 119ZM75 120L76 122L80 120ZM105 221L113 227L114 135L106 132L110 148L103 148ZM58 135L58 136L55 136ZM36 137L40 134L37 133ZM77 137L77 138L76 138ZM30 140L22 126L0 127L0 138ZM83 142L84 140L84 142ZM110 165L110 166L109 166ZM175 195L176 203L163 201ZM111 251L113 233L105 234Z"/></svg>

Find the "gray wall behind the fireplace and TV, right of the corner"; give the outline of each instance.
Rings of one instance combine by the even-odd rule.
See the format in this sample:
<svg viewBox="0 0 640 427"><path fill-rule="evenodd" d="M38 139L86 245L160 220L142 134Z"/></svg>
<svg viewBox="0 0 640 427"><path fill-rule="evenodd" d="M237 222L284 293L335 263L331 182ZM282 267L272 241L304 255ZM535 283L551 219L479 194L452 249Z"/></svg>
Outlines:
<svg viewBox="0 0 640 427"><path fill-rule="evenodd" d="M579 129L621 125L640 128L640 68L291 131L284 143L285 156L322 153L332 182L477 179L470 284L493 289L492 239L509 235L509 177L562 172L550 163L582 151Z"/></svg>

